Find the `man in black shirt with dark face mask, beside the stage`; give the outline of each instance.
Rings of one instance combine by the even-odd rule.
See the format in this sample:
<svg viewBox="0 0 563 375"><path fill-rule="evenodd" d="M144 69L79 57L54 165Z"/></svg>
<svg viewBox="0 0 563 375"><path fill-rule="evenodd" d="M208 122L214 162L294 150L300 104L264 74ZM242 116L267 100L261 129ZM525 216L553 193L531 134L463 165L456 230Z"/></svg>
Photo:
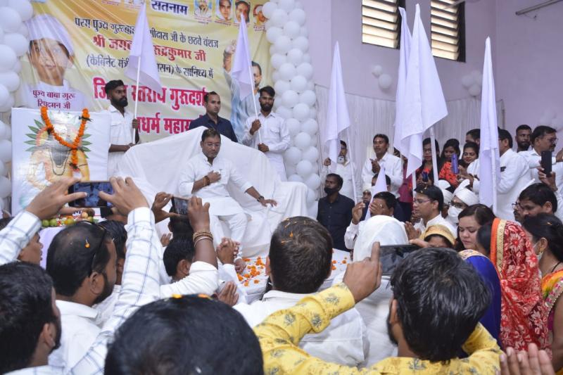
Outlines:
<svg viewBox="0 0 563 375"><path fill-rule="evenodd" d="M329 231L334 248L350 250L344 243L346 227L352 220L354 201L339 193L342 188L342 177L329 173L324 181L324 192L327 196L320 198L317 221Z"/></svg>

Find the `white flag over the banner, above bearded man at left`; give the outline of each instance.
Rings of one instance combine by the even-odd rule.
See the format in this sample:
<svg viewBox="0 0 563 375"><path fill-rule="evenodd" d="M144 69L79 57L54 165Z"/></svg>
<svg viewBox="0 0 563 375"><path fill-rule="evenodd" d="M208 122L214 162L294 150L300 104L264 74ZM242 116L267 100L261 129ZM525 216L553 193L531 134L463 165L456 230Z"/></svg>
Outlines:
<svg viewBox="0 0 563 375"><path fill-rule="evenodd" d="M139 72L139 82L137 82L137 72ZM129 53L129 63L127 63L127 68L125 68L125 75L135 80L137 86L140 83L154 91L162 89L156 57L154 56L153 37L148 28L144 4L141 5L141 10L137 16L131 52Z"/></svg>

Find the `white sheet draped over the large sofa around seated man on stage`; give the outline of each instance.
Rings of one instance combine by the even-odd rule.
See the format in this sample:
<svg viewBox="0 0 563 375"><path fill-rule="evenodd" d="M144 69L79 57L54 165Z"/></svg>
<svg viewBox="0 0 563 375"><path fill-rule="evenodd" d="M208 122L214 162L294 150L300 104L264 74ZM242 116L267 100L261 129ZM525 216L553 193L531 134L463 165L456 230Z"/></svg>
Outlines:
<svg viewBox="0 0 563 375"><path fill-rule="evenodd" d="M159 191L179 196L179 175L187 160L201 154L199 144L204 130L205 127L198 127L131 148L120 161L119 175L134 176L135 184L149 203ZM272 232L281 220L307 215L307 186L301 182L280 182L277 172L264 153L237 144L225 136L221 136L219 155L232 161L236 170L262 196L273 198L278 203L276 207L263 208L248 194L235 186L227 185L229 195L251 216L242 241L243 257L267 254ZM216 222L220 224L219 220ZM167 220L164 220L158 223L158 227L165 232L166 224ZM226 225L222 227L226 232L229 230Z"/></svg>

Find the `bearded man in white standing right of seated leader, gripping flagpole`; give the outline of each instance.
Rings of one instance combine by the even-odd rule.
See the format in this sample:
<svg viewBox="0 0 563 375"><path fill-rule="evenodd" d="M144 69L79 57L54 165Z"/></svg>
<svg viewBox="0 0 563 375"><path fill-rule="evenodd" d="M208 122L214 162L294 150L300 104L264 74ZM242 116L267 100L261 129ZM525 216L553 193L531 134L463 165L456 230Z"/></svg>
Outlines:
<svg viewBox="0 0 563 375"><path fill-rule="evenodd" d="M281 181L287 181L284 151L289 148L289 130L283 117L272 111L276 92L270 86L260 89L260 113L246 119L242 144L265 153Z"/></svg>

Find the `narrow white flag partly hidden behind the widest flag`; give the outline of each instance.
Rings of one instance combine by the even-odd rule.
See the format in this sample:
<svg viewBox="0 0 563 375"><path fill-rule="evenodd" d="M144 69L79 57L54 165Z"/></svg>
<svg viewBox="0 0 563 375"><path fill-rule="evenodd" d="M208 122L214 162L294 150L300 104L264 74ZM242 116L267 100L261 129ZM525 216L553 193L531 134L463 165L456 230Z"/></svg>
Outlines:
<svg viewBox="0 0 563 375"><path fill-rule="evenodd" d="M408 142L403 146L403 115L405 106L405 86L407 84L407 63L409 61L410 43L412 36L410 34L409 25L407 23L407 12L405 8L399 7L401 23L400 23L400 49L399 49L399 72L397 78L397 93L395 95L395 135L393 136L393 146L400 153L406 155L408 153Z"/></svg>

